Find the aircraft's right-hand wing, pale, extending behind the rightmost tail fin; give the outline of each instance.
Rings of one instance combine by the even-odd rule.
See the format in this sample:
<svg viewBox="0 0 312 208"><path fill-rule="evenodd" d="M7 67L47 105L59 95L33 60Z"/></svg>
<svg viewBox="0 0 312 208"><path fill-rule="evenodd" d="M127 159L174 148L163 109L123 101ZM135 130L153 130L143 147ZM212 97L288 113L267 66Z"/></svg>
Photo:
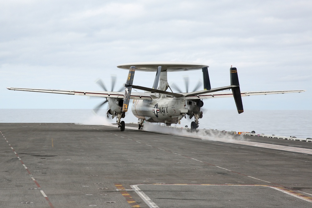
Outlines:
<svg viewBox="0 0 312 208"><path fill-rule="evenodd" d="M300 93L305 90L280 90L280 91L246 91L241 92L241 96L261 95L261 94L284 94L284 93ZM208 99L208 98L228 98L233 97L232 91L218 91L186 96L187 99Z"/></svg>

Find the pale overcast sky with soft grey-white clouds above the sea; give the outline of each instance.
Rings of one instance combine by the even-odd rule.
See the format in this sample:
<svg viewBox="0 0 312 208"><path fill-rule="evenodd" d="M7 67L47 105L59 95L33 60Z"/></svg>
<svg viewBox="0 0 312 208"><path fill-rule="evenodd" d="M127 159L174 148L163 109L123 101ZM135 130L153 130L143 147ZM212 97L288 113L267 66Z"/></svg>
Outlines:
<svg viewBox="0 0 312 208"><path fill-rule="evenodd" d="M101 90L97 78L125 82L119 64L186 61L209 65L212 88L230 84L233 65L241 91L307 90L244 97L245 110L312 110L311 11L309 0L0 0L0 108L92 109L101 99L6 87ZM184 75L191 87L202 79L168 72L169 84ZM134 84L151 87L154 76L135 72ZM236 109L232 98L204 103Z"/></svg>

